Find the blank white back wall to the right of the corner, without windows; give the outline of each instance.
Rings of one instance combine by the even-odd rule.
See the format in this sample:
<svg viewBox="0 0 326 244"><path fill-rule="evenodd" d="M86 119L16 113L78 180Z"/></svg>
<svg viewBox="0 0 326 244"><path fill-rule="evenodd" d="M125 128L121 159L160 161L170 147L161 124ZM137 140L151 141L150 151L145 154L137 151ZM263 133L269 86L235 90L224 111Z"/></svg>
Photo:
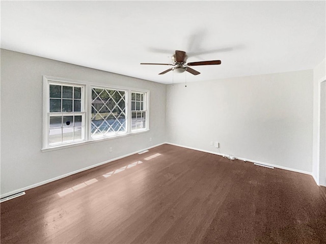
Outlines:
<svg viewBox="0 0 326 244"><path fill-rule="evenodd" d="M311 172L312 130L312 70L167 89L171 143Z"/></svg>

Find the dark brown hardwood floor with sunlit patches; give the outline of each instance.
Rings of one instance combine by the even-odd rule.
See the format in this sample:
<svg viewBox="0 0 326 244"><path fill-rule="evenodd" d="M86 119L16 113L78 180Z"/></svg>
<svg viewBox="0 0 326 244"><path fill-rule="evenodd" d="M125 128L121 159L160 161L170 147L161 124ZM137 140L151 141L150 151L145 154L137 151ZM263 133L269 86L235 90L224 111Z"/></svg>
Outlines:
<svg viewBox="0 0 326 244"><path fill-rule="evenodd" d="M326 243L325 189L161 145L1 203L1 243Z"/></svg>

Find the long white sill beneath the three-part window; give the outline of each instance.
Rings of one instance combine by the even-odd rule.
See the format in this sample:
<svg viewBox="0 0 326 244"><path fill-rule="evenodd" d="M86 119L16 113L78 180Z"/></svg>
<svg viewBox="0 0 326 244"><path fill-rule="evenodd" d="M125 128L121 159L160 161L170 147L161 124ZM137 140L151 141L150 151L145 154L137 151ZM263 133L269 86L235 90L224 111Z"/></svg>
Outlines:
<svg viewBox="0 0 326 244"><path fill-rule="evenodd" d="M49 146L49 147L46 147L46 148L42 148L41 151L43 153L45 153L46 151L54 151L54 150L65 149L65 148L69 148L69 147L73 147L73 146L87 145L87 144L91 144L91 143L95 143L95 142L112 140L112 139L117 139L117 138L120 138L120 137L136 135L136 134L142 134L142 133L146 133L146 132L149 132L149 131L150 130L147 129L147 130L143 130L143 131L130 132L128 134L122 134L122 135L116 135L116 136L110 136L110 137L100 137L100 138L92 139L92 140L89 140L89 141L79 141L79 142L73 142L73 143L65 144L65 145Z"/></svg>

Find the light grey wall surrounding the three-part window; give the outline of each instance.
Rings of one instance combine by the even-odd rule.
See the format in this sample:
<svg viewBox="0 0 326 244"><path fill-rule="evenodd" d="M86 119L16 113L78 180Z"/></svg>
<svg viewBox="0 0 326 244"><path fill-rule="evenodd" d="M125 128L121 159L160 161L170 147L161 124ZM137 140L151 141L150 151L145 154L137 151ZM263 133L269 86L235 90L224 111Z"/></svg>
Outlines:
<svg viewBox="0 0 326 244"><path fill-rule="evenodd" d="M42 153L43 75L150 90L150 131ZM2 197L166 141L166 85L3 49L1 83Z"/></svg>

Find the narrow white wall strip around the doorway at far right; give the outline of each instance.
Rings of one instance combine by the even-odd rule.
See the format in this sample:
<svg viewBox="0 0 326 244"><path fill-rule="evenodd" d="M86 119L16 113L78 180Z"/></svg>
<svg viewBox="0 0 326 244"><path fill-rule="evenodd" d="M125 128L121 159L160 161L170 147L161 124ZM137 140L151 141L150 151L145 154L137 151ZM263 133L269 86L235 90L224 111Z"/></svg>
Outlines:
<svg viewBox="0 0 326 244"><path fill-rule="evenodd" d="M317 65L314 69L314 109L313 109L313 169L312 174L319 185L326 186L326 162L324 154L326 154L326 148L324 146L325 136L323 131L324 127L323 118L325 115L325 107L323 106L323 100L325 94L323 93L324 81L326 80L326 59Z"/></svg>

